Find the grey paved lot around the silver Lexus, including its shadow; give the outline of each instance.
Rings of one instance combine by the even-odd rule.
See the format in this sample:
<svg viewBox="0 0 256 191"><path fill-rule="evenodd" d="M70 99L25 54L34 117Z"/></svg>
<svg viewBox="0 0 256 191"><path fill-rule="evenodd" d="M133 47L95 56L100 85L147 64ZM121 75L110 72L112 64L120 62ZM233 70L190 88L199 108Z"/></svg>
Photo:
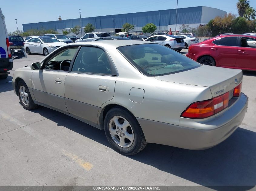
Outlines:
<svg viewBox="0 0 256 191"><path fill-rule="evenodd" d="M43 58L14 60L0 80L0 185L256 185L256 72L244 72L248 111L221 144L203 151L148 144L124 156L103 130L45 107L22 108L8 81Z"/></svg>

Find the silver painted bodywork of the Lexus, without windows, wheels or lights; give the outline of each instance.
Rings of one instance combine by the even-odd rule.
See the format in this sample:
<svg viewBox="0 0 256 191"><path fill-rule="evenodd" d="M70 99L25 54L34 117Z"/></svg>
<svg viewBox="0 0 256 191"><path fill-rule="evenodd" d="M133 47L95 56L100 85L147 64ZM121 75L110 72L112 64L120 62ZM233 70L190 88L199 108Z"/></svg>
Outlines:
<svg viewBox="0 0 256 191"><path fill-rule="evenodd" d="M33 89L32 94L36 90L33 99L37 100L38 91L41 91L38 93L41 95L49 94L40 100L43 102L41 105L50 108L54 106L56 110L99 129L103 129L102 113L107 106L123 106L137 118L147 142L203 149L227 138L244 117L248 104L248 98L244 94L230 107L206 119L187 119L180 116L191 103L214 97L214 91L221 88L224 88L224 92L231 91L235 87L235 78L239 83L242 81L241 70L200 66L171 75L148 77L139 72L117 50L119 46L145 43L151 42L106 40L71 43L65 46L94 45L103 48L115 64L118 71L118 75L115 76L50 71L56 74L40 77L40 70L32 71L25 67L15 71L12 84L15 87L15 80L22 78L29 91ZM63 84L55 83L55 78L62 79ZM102 87L108 87L108 91L100 91ZM43 93L46 91L47 93ZM50 103L44 99L52 95L58 96L63 107L68 108L68 112L58 105L48 105ZM164 132L161 138L158 136L159 132ZM173 140L170 136L167 137L167 134L171 134ZM191 143L193 140L194 145Z"/></svg>

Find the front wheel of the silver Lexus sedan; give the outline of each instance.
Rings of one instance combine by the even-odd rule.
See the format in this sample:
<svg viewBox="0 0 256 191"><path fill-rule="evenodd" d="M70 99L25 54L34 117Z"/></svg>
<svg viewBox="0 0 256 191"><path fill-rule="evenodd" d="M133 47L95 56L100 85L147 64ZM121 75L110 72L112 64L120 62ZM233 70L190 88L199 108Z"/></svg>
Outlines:
<svg viewBox="0 0 256 191"><path fill-rule="evenodd" d="M30 92L28 91L28 86L24 81L18 82L18 96L24 109L32 110L38 107L38 105L32 100Z"/></svg>

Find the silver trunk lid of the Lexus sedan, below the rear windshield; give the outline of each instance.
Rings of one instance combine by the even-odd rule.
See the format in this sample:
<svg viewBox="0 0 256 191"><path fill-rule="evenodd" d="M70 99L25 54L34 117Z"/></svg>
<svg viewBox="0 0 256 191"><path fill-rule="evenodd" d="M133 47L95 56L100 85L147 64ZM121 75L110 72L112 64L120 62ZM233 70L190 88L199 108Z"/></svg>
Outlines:
<svg viewBox="0 0 256 191"><path fill-rule="evenodd" d="M209 87L212 97L235 88L243 79L242 70L202 65L198 68L155 77L158 80ZM237 79L237 83L236 83Z"/></svg>

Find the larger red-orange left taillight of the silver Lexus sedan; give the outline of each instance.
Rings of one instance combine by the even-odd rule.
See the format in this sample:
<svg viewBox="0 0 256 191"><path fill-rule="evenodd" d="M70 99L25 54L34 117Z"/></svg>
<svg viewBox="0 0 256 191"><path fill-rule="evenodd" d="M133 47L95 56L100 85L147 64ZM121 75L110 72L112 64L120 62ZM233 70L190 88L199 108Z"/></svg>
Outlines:
<svg viewBox="0 0 256 191"><path fill-rule="evenodd" d="M192 103L181 117L202 119L212 116L228 107L229 92L210 100Z"/></svg>

